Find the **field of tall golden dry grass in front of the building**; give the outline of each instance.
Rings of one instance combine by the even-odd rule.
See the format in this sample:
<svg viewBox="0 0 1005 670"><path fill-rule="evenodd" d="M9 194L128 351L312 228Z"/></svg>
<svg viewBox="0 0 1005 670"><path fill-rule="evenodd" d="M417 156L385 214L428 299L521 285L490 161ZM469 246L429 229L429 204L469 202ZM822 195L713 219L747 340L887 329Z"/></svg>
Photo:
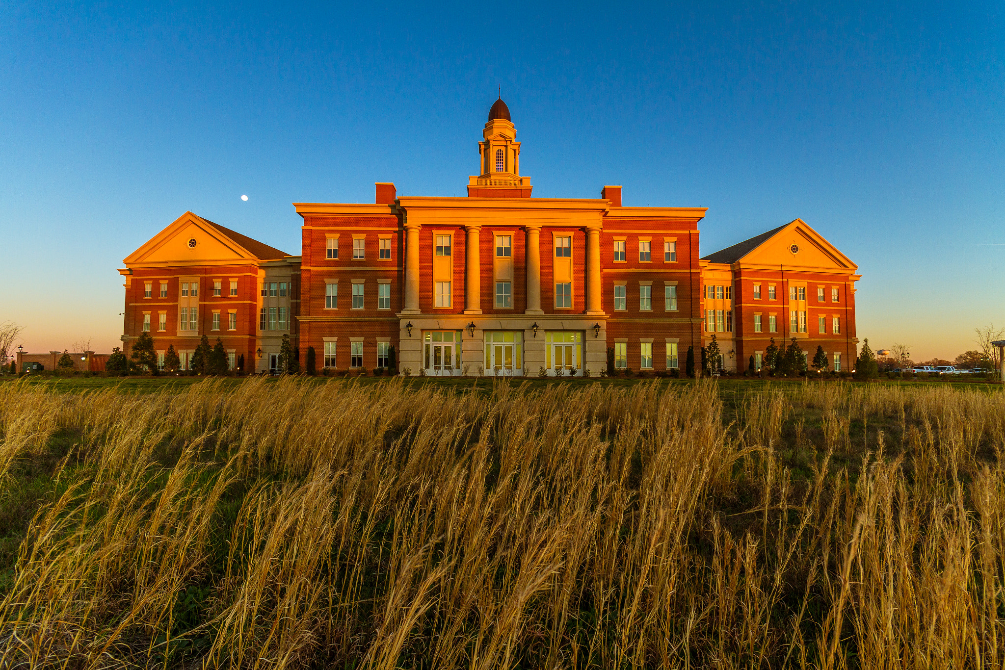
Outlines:
<svg viewBox="0 0 1005 670"><path fill-rule="evenodd" d="M725 388L5 383L0 667L1002 667L1005 394Z"/></svg>

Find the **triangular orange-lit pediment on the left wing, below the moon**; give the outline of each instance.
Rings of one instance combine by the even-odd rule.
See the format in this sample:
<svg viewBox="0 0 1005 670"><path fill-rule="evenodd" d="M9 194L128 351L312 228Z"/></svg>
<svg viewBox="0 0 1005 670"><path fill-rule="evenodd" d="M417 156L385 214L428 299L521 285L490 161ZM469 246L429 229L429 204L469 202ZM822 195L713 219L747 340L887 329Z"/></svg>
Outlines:
<svg viewBox="0 0 1005 670"><path fill-rule="evenodd" d="M185 212L124 262L127 265L189 265L256 260L254 254L219 227L192 212Z"/></svg>

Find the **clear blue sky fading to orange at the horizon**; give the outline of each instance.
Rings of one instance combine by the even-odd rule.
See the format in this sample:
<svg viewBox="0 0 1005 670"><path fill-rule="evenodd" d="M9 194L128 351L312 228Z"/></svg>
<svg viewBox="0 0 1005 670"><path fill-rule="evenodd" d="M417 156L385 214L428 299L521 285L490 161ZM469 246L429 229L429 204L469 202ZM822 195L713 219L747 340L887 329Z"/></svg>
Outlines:
<svg viewBox="0 0 1005 670"><path fill-rule="evenodd" d="M186 210L298 253L291 202L464 195L497 86L537 197L709 207L702 254L800 217L858 263L873 349L1005 326L1001 2L31 2L0 34L31 351L115 346L116 269Z"/></svg>

